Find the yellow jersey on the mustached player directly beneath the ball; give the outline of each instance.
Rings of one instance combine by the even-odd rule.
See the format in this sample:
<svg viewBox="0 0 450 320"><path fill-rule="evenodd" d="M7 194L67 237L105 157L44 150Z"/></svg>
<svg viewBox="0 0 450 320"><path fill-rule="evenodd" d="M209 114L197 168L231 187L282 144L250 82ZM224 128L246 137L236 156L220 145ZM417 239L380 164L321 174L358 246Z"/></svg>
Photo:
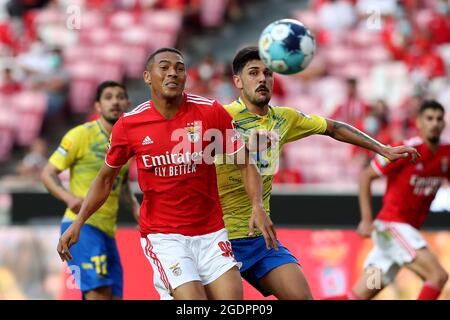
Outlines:
<svg viewBox="0 0 450 320"><path fill-rule="evenodd" d="M287 142L324 133L327 128L326 120L289 107L269 107L266 115L259 116L248 111L241 99L224 107L236 122L239 134L247 144L252 130L269 130L278 134L277 145L271 146L266 151L251 153L262 176L264 208L269 214L273 175L278 168L281 147ZM247 238L252 204L245 192L239 167L229 164L224 158L217 157L216 171L228 236L230 239Z"/></svg>

